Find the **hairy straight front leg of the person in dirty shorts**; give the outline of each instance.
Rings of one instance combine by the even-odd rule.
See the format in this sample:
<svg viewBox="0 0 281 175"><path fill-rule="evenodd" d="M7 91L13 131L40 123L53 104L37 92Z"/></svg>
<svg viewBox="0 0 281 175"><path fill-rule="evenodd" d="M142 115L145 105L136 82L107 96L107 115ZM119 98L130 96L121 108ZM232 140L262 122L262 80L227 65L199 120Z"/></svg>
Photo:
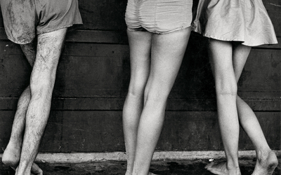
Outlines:
<svg viewBox="0 0 281 175"><path fill-rule="evenodd" d="M37 56L30 79L32 98L27 109L25 134L16 175L29 175L37 156L48 120L55 73L66 31L67 29L60 29L38 36Z"/></svg>

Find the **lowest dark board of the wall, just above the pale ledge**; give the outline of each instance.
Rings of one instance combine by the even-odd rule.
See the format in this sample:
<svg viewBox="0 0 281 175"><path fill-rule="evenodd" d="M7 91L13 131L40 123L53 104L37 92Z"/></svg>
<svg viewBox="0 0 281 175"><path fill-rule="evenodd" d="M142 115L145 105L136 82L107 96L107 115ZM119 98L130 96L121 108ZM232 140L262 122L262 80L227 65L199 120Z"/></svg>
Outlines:
<svg viewBox="0 0 281 175"><path fill-rule="evenodd" d="M13 111L0 111L0 147L6 148ZM280 113L256 112L270 148L280 148ZM240 132L240 150L254 149ZM124 151L122 111L52 111L41 152ZM167 111L157 151L223 150L216 112ZM0 153L2 153L0 151Z"/></svg>

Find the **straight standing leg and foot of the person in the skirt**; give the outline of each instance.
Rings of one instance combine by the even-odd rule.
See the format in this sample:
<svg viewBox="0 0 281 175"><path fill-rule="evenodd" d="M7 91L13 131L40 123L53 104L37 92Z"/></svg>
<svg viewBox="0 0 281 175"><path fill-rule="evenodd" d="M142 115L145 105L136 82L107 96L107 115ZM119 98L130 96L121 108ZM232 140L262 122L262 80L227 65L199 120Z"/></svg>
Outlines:
<svg viewBox="0 0 281 175"><path fill-rule="evenodd" d="M226 153L226 163L207 165L214 174L238 175L239 121L237 116L237 84L233 69L233 46L226 41L210 41L211 66L216 83L218 123Z"/></svg>

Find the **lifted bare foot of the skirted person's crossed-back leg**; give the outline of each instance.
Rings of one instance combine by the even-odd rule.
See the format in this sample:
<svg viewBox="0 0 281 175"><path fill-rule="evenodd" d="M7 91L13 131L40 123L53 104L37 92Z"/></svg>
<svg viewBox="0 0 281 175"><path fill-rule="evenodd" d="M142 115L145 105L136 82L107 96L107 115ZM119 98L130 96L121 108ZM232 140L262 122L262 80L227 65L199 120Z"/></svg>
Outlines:
<svg viewBox="0 0 281 175"><path fill-rule="evenodd" d="M256 167L252 175L271 175L277 165L277 157L273 151L270 151L256 159Z"/></svg>

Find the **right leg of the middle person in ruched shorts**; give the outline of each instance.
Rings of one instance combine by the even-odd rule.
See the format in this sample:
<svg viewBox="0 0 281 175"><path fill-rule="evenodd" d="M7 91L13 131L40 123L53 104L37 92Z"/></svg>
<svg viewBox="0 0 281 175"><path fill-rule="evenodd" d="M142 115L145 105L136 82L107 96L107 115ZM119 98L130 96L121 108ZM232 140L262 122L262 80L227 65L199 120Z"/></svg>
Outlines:
<svg viewBox="0 0 281 175"><path fill-rule="evenodd" d="M189 36L190 28L152 36L150 75L138 125L133 174L148 175L162 130L166 100L181 66Z"/></svg>

